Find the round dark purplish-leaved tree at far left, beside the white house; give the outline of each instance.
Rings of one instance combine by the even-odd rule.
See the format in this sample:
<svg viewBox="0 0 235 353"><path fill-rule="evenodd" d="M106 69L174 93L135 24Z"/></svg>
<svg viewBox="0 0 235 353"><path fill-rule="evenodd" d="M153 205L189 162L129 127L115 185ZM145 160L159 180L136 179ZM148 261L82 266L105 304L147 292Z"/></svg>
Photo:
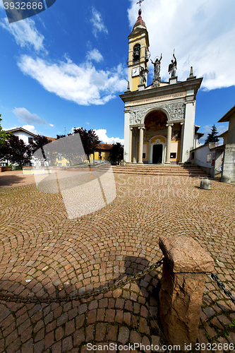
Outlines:
<svg viewBox="0 0 235 353"><path fill-rule="evenodd" d="M29 145L26 145L23 140L19 139L18 136L12 135L6 141L1 155L1 159L9 160L11 163L17 163L20 165L20 169L23 164L30 162L31 150Z"/></svg>

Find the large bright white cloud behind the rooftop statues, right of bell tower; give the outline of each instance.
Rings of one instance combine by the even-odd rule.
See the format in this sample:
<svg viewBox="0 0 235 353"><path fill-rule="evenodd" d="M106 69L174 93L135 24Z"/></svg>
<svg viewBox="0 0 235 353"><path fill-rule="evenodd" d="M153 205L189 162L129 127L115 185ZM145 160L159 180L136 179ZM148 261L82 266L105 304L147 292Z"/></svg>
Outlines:
<svg viewBox="0 0 235 353"><path fill-rule="evenodd" d="M128 17L132 28L138 6L131 1ZM148 0L142 8L151 59L162 52L162 80L169 78L168 65L175 48L179 80L185 80L193 66L193 73L203 77L205 90L234 85L234 0ZM149 69L153 73L151 63Z"/></svg>

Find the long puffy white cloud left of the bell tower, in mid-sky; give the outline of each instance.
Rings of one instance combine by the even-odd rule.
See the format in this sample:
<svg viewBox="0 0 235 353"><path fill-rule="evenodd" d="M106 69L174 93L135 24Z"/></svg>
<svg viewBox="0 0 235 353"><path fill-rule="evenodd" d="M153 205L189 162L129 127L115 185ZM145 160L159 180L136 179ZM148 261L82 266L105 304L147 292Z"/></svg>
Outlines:
<svg viewBox="0 0 235 353"><path fill-rule="evenodd" d="M81 105L104 104L126 89L126 70L119 64L110 71L96 70L90 62L80 66L64 61L53 64L44 59L20 57L18 66L46 90Z"/></svg>

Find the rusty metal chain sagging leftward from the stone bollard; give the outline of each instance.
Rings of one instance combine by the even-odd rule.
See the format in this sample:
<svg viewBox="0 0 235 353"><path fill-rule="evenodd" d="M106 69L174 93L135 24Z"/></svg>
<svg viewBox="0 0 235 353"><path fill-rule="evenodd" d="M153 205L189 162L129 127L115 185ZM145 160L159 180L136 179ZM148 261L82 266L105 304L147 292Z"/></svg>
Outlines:
<svg viewBox="0 0 235 353"><path fill-rule="evenodd" d="M80 299L89 299L90 297L96 297L99 294L106 294L109 291L114 291L115 289L124 287L128 285L131 282L134 282L135 280L140 280L140 278L145 277L148 273L150 273L152 270L156 270L159 268L162 263L164 263L164 258L162 260L157 261L157 263L154 263L150 267L146 268L143 270L143 272L137 273L135 276L131 276L129 278L126 278L126 280L121 280L117 281L114 283L114 285L102 287L101 289L95 289L92 292L86 292L84 294L76 294L76 295L68 295L67 297L48 297L48 298L37 298L37 297L21 297L18 294L3 294L0 292L0 300L3 301L14 301L16 303L25 303L25 304L41 304L41 303L46 303L46 304L51 304L51 303L61 303L64 301L73 301L73 300L80 300Z"/></svg>

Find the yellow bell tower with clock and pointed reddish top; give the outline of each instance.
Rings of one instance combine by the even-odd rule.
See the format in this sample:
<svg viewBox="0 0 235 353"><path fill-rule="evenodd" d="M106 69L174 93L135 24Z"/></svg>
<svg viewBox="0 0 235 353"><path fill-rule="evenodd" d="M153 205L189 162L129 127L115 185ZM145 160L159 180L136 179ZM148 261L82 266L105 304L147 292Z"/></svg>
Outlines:
<svg viewBox="0 0 235 353"><path fill-rule="evenodd" d="M131 35L128 36L128 82L131 91L143 90L147 86L147 61L150 46L145 22L141 17L141 8L138 19L133 26Z"/></svg>

